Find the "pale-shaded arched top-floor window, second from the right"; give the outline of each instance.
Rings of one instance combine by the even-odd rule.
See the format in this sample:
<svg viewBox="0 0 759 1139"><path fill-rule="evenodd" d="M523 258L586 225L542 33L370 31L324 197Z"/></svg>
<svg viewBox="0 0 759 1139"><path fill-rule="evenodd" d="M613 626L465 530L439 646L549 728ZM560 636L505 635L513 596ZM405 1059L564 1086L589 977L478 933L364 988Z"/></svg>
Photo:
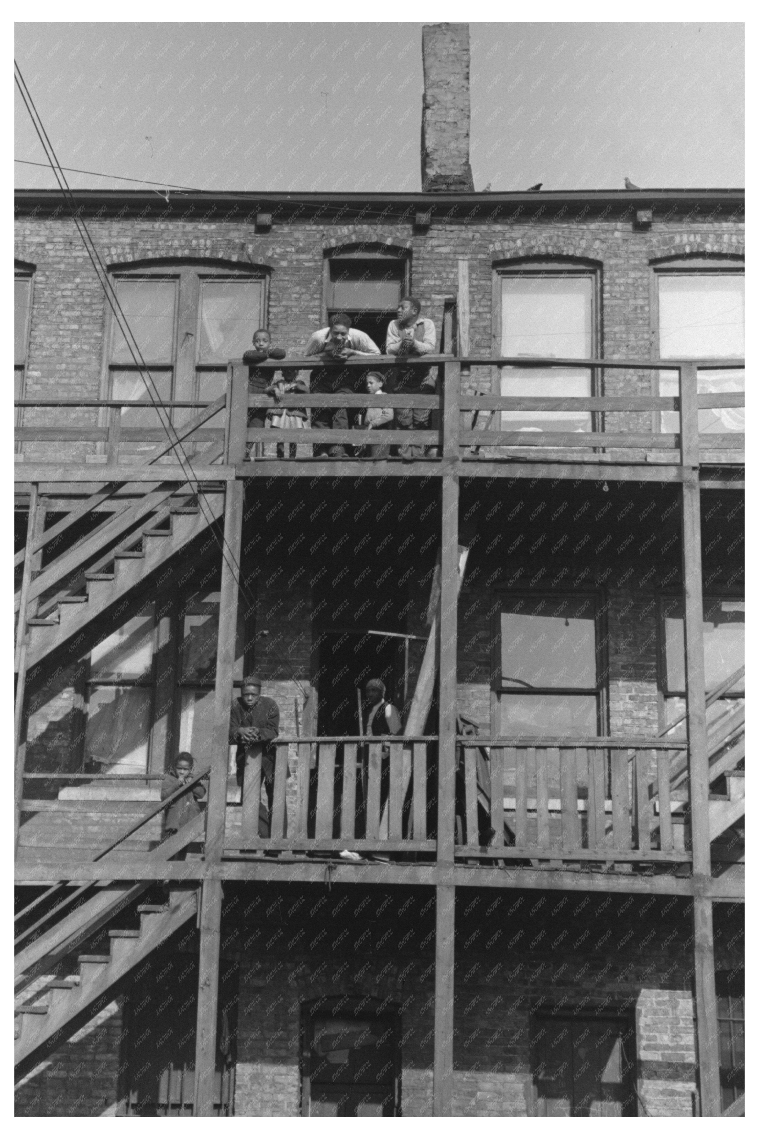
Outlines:
<svg viewBox="0 0 759 1139"><path fill-rule="evenodd" d="M509 261L493 271L493 354L582 359L598 354L597 265L570 259ZM503 368L501 395L594 395L593 370ZM589 411L504 411L501 431L593 431Z"/></svg>

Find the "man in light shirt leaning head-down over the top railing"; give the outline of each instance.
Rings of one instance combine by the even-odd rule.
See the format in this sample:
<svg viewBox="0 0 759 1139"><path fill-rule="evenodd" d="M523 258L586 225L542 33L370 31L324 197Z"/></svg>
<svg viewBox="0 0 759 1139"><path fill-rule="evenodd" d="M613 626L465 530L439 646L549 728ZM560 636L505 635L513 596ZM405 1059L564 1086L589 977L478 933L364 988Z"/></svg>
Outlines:
<svg viewBox="0 0 759 1139"><path fill-rule="evenodd" d="M370 336L351 328L351 318L344 312L335 312L329 318L329 327L312 333L305 345L305 355L319 357L329 368L315 368L311 372L312 392L344 392L351 394L357 385L364 383L364 375L348 368L337 368L341 360L353 357L379 355L379 349ZM311 408L311 427L348 431L348 408ZM345 448L333 444L315 443L313 453L319 457L328 454L330 459L344 457Z"/></svg>

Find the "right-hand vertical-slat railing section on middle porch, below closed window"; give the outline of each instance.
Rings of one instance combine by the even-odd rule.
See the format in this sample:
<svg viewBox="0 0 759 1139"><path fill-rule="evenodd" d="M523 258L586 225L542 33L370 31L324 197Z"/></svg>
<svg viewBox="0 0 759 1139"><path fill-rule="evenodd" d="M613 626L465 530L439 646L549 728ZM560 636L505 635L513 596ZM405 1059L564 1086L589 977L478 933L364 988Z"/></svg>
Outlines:
<svg viewBox="0 0 759 1139"><path fill-rule="evenodd" d="M458 857L602 863L691 861L685 794L670 768L683 744L656 739L462 737L464 844ZM478 748L490 768L488 846ZM655 781L655 788L653 786ZM472 836L475 836L474 842Z"/></svg>

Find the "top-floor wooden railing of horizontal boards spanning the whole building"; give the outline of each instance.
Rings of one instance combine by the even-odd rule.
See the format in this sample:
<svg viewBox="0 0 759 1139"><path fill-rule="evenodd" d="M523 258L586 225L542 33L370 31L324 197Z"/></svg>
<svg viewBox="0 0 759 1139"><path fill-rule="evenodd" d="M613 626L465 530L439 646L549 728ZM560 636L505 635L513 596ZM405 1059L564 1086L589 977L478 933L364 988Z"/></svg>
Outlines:
<svg viewBox="0 0 759 1139"><path fill-rule="evenodd" d="M272 396L247 392L248 368L242 361L231 361L228 367L227 394L220 396L212 403L203 401L170 401L162 404L165 413L162 412L161 421L156 412L155 426L124 426L124 415L136 408L153 408L154 404L142 400L140 402L117 401L117 400L19 400L16 407L19 409L49 409L49 419L44 423L30 425L27 423L16 428L16 439L21 444L31 443L82 443L97 444L101 451L99 461L106 466L123 464L144 464L156 461L156 456L124 454L123 444L154 443L164 446L161 453L165 456L164 461L177 460L179 448L183 448L193 457L193 461L209 464L217 459L222 452L229 456L229 439L232 424L244 417L242 404L247 403L248 409L294 409L307 408L317 410L319 408L410 408L425 407L431 411L439 412L436 426L425 431L395 429L366 431L350 429L336 431L333 428L312 429L310 424L303 427L291 427L287 429L271 431L269 428L251 427L247 429L247 441L251 444L285 444L285 457L289 454L287 444L308 444L308 457L311 453L311 445L340 445L360 448L364 445L391 445L399 446L401 443L415 444L429 449L429 458L442 456L443 458L465 457L467 459L491 458L495 449L495 457L508 454L509 452L529 449L534 453L536 449L548 449L550 458L563 457L566 452L569 458L583 461L588 456L595 456L606 461L639 461L638 456L631 452L653 452L658 461L678 462L684 461L683 454L703 452L726 452L728 459L741 460L744 446L744 435L740 432L705 433L699 434L697 411L705 409L742 408L744 405L743 392L724 393L697 393L699 372L710 370L740 370L743 361L738 360L558 360L550 358L522 358L522 357L450 357L450 355L426 355L403 360L402 368L416 368L427 370L438 367L439 380L438 392L434 394L406 394L393 392L393 376L398 370L398 359L395 357L361 357L341 361L338 364L325 364L320 360L309 358L294 358L287 361L267 360L256 364L256 369L264 374L275 372L281 369L283 363L287 368L312 371L326 368L340 368L345 370L350 377L350 384L354 391L352 393L334 392L294 392L283 395L279 401ZM490 369L492 377L498 377L504 368L524 369L579 369L590 371L594 386L599 394L588 396L506 396L499 394L468 394L467 388L472 386L472 369ZM378 370L387 377L387 394L368 395L356 391L362 387L362 376L369 370ZM635 380L635 390L622 394L609 395L603 392L605 377L613 372L626 371L653 376L658 371L677 372L680 380L679 395L651 395L640 393L639 378ZM476 384L487 383L491 386L492 379L482 379L482 372L475 376ZM662 412L680 413L685 408L684 393L687 392L688 413L680 416L680 427L677 433L659 431L659 421ZM100 426L79 426L75 424L63 426L59 423L63 409L87 409L99 410L107 423ZM191 420L177 423L183 418L190 409L196 410ZM499 417L504 412L581 412L590 417L590 431L552 431L550 424L546 423L542 431L520 431L501 429ZM691 413L693 411L694 413ZM183 415L180 415L183 412ZM213 416L223 412L226 426L205 427ZM636 413L637 419L629 421L625 416ZM650 419L651 429L642 429L640 415ZM609 417L613 417L612 420ZM39 418L39 416L38 416ZM170 421L171 420L171 425ZM468 421L467 421L468 420ZM243 419L244 426L244 419ZM189 441L189 442L187 442ZM197 454L197 444L206 445L205 454ZM214 449L213 456L211 450ZM483 453L487 449L488 454ZM173 454L171 452L174 452ZM305 458L304 448L300 449L299 459ZM92 456L92 458L98 458ZM274 454L264 458L276 458ZM236 461L228 457L228 461Z"/></svg>

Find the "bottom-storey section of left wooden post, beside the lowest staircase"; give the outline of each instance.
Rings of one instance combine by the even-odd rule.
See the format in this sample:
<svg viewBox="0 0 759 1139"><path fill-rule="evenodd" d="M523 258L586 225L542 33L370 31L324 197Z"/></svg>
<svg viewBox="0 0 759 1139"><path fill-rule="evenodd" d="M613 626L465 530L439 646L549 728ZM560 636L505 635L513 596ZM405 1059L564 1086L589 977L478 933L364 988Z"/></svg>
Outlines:
<svg viewBox="0 0 759 1139"><path fill-rule="evenodd" d="M213 1115L221 898L222 883L218 879L206 879L201 888L201 959L195 1032L195 1097L193 1100L193 1114L203 1116Z"/></svg>

